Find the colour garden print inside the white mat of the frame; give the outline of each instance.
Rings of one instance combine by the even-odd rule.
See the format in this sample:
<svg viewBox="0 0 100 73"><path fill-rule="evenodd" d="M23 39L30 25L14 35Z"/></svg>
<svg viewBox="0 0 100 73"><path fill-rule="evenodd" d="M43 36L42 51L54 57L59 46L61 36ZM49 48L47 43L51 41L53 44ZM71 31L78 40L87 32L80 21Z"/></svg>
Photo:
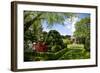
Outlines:
<svg viewBox="0 0 100 73"><path fill-rule="evenodd" d="M89 14L24 11L25 62L89 58Z"/></svg>

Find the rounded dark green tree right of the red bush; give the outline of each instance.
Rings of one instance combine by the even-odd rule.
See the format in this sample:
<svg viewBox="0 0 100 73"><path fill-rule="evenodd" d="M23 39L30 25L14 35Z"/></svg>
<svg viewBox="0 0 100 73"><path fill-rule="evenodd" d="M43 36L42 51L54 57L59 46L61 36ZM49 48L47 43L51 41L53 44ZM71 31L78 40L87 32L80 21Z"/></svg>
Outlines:
<svg viewBox="0 0 100 73"><path fill-rule="evenodd" d="M47 35L46 43L49 47L48 48L49 51L52 51L52 52L57 52L63 49L63 46L64 46L62 37L60 33L56 30L49 31Z"/></svg>

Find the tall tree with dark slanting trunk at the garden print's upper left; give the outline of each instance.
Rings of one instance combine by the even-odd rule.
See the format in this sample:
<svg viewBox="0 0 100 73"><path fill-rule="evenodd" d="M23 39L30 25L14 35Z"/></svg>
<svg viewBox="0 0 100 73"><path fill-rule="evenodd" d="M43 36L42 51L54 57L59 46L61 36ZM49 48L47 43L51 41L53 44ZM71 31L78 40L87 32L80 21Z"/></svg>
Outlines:
<svg viewBox="0 0 100 73"><path fill-rule="evenodd" d="M42 12L24 12L24 38L32 42L40 40L42 36L42 25L39 17L42 15ZM30 35L29 35L30 33Z"/></svg>

